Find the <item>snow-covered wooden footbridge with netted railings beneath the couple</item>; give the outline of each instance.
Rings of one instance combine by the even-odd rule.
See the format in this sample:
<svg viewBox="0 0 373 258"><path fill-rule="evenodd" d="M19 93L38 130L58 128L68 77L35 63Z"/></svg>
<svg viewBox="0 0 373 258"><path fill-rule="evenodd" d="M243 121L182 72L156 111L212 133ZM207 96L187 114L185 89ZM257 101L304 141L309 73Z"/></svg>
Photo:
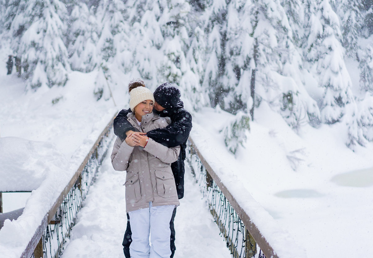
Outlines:
<svg viewBox="0 0 373 258"><path fill-rule="evenodd" d="M19 257L124 257L123 172L113 170L107 155L115 138L112 127L113 119ZM293 242L284 239L286 234L277 227L273 233L261 231L256 219L248 215L250 207L237 201L234 191L220 180L198 147L189 138L185 196L175 218L175 258L305 257L303 252L297 252L299 248ZM245 198L250 199L257 213L262 212L263 208L249 194ZM21 214L22 209L0 214L0 226L1 220L10 216L16 219ZM262 214L266 216L264 210ZM268 225L274 225L270 216L265 218Z"/></svg>

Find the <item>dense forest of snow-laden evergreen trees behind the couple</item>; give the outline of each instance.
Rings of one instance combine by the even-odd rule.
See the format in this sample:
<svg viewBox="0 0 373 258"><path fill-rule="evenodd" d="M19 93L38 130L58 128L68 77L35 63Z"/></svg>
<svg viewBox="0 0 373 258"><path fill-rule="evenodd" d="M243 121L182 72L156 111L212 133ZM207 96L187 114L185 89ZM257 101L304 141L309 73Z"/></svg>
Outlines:
<svg viewBox="0 0 373 258"><path fill-rule="evenodd" d="M372 0L0 0L1 51L26 91L95 73L107 101L120 73L181 88L198 111L236 116L235 152L266 102L297 131L341 123L354 149L373 141ZM79 87L78 85L76 87ZM62 96L63 97L63 96ZM57 102L56 98L54 102Z"/></svg>

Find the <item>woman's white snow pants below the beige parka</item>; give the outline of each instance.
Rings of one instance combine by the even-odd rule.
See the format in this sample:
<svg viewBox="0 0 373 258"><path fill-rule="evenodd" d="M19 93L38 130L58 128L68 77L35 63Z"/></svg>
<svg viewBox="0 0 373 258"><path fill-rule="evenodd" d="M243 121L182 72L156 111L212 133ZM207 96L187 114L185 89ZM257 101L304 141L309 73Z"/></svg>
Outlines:
<svg viewBox="0 0 373 258"><path fill-rule="evenodd" d="M131 258L170 257L170 220L174 208L175 205L153 207L150 202L149 208L128 212L132 231Z"/></svg>

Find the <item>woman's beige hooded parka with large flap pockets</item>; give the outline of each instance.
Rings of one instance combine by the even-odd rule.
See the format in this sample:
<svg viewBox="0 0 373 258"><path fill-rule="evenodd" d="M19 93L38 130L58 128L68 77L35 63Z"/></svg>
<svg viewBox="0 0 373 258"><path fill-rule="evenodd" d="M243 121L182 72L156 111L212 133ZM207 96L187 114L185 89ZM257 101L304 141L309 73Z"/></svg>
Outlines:
<svg viewBox="0 0 373 258"><path fill-rule="evenodd" d="M144 133L167 127L171 122L151 113L142 116L139 126L133 112L127 117L134 128ZM126 170L126 212L148 208L149 202L153 206L180 205L171 170L179 152L180 146L169 148L151 138L143 148L131 147L117 137L111 159L115 170Z"/></svg>

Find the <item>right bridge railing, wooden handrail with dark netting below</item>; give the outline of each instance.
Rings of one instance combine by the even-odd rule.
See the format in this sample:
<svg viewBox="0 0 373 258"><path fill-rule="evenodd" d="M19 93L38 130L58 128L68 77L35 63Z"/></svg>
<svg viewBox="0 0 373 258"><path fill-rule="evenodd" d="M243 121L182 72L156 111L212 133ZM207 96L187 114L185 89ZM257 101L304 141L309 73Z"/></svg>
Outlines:
<svg viewBox="0 0 373 258"><path fill-rule="evenodd" d="M278 257L256 226L248 225L248 223L245 225L233 207L233 205L238 206L235 199L204 160L190 137L186 149L186 159L204 198L208 202L210 212L225 237L233 258ZM239 213L244 212L241 210ZM241 217L243 216L241 215ZM245 220L247 219L245 218ZM253 235L257 236L257 239L254 239Z"/></svg>

